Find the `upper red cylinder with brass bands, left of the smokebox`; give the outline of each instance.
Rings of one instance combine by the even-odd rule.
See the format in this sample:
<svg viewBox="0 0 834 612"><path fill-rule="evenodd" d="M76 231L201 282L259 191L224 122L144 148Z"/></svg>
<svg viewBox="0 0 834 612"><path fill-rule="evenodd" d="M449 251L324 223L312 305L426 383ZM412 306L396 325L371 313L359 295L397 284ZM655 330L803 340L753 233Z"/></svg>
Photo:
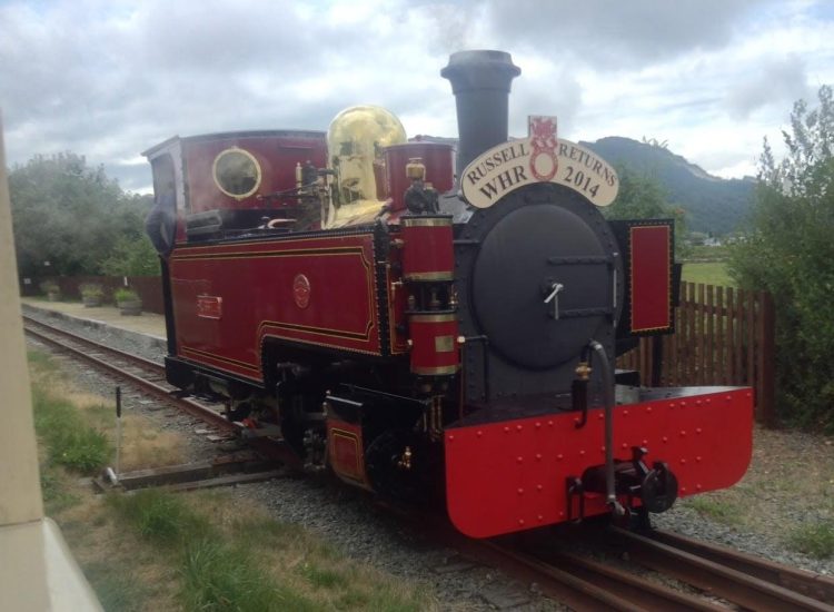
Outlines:
<svg viewBox="0 0 834 612"><path fill-rule="evenodd" d="M451 215L404 215L403 278L407 282L453 280L455 254Z"/></svg>

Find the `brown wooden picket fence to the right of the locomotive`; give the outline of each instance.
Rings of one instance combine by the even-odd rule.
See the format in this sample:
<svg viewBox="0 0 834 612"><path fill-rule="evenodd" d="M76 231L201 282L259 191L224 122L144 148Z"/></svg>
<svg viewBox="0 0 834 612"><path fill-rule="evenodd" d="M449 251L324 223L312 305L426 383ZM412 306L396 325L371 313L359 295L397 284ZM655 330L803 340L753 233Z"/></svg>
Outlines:
<svg viewBox="0 0 834 612"><path fill-rule="evenodd" d="M617 367L653 386L744 385L755 389L756 419L775 422L774 313L771 296L681 284L675 333L642 338Z"/></svg>

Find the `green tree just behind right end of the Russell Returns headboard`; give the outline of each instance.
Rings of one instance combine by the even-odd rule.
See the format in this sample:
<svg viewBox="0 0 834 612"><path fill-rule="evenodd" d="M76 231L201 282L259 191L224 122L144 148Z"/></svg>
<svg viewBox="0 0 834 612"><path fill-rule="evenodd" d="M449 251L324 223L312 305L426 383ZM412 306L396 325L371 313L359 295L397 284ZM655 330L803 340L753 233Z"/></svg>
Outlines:
<svg viewBox="0 0 834 612"><path fill-rule="evenodd" d="M608 219L675 219L675 255L685 255L685 213L669 204L669 195L659 181L624 166L617 168L617 198L603 215Z"/></svg>

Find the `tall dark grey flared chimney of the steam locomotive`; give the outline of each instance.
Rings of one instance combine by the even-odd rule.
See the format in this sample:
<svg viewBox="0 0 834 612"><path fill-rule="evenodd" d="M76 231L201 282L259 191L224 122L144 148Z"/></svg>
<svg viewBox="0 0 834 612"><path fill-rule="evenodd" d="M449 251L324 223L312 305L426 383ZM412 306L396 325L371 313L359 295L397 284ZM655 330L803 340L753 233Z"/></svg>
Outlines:
<svg viewBox="0 0 834 612"><path fill-rule="evenodd" d="M457 175L485 150L507 141L510 82L522 73L505 51L458 51L440 76L457 102Z"/></svg>

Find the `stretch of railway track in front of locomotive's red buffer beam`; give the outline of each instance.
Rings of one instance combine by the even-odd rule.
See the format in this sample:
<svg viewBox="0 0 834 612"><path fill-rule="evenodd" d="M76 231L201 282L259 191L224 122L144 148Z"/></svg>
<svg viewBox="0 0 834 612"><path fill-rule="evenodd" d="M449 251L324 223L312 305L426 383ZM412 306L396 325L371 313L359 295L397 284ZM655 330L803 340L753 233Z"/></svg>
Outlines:
<svg viewBox="0 0 834 612"><path fill-rule="evenodd" d="M587 549L627 559L631 567L556 546L476 542L468 553L578 611L755 610L834 612L834 579L666 531L609 527L575 534ZM464 544L466 546L466 544ZM635 565L641 567L635 571ZM672 579L672 580L669 580ZM669 586L669 583L675 586Z"/></svg>

